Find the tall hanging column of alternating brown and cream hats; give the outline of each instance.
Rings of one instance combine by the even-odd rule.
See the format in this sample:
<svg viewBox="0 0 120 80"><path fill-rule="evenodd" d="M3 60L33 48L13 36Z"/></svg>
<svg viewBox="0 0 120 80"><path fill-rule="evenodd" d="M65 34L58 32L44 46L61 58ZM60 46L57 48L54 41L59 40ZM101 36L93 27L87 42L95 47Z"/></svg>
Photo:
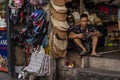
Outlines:
<svg viewBox="0 0 120 80"><path fill-rule="evenodd" d="M67 48L67 30L69 25L66 21L67 8L65 2L69 0L51 0L51 22L52 30L50 32L51 54L56 57L65 57Z"/></svg>

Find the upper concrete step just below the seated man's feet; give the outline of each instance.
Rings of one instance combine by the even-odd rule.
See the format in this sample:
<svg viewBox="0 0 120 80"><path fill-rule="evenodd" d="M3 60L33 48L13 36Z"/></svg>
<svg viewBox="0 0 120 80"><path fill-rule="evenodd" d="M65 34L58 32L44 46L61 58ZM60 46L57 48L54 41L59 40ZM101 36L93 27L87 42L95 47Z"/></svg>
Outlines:
<svg viewBox="0 0 120 80"><path fill-rule="evenodd" d="M103 57L84 57L82 59L82 68L87 67L120 71L120 52L106 53L103 54Z"/></svg>

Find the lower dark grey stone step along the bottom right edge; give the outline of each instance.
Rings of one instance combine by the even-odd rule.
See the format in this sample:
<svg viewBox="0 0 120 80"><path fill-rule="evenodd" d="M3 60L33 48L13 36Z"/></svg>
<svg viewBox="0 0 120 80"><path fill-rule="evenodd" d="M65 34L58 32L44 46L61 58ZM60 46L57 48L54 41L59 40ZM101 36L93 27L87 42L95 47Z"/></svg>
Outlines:
<svg viewBox="0 0 120 80"><path fill-rule="evenodd" d="M57 80L120 80L120 72L95 68L64 68Z"/></svg>

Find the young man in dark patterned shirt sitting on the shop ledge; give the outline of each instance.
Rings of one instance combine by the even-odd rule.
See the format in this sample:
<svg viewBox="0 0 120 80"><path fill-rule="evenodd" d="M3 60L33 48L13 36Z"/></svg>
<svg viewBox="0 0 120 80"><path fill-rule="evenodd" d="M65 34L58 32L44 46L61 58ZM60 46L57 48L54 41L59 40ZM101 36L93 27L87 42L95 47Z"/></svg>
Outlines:
<svg viewBox="0 0 120 80"><path fill-rule="evenodd" d="M80 55L84 55L88 52L87 48L84 46L84 43L91 41L91 56L101 56L100 54L97 54L96 46L98 43L98 38L101 37L102 34L94 27L89 28L87 24L88 16L86 14L82 14L80 16L80 25L71 27L68 30L68 38L72 39L75 45L81 49Z"/></svg>

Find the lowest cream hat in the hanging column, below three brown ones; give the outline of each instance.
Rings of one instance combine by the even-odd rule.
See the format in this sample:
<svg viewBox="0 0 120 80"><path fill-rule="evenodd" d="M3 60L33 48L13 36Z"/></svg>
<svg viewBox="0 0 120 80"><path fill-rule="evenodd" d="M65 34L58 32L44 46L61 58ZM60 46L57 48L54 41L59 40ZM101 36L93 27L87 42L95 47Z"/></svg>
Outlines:
<svg viewBox="0 0 120 80"><path fill-rule="evenodd" d="M66 48L67 48L67 39L66 40L59 40L59 39L57 39L56 35L53 35L53 44L59 50L66 50Z"/></svg>

